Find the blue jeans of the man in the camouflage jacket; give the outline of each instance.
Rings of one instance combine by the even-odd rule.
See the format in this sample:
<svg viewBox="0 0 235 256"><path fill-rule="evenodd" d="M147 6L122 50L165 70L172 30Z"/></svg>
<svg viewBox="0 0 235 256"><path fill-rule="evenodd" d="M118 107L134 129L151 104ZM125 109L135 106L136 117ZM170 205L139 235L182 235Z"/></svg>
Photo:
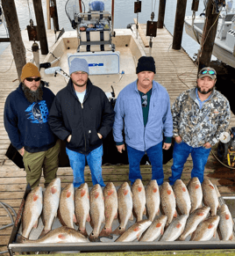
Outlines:
<svg viewBox="0 0 235 256"><path fill-rule="evenodd" d="M173 165L171 167L172 176L169 177L170 185L174 185L176 179L182 178L183 165L187 161L189 154L193 159L193 170L191 178L197 177L200 182L203 182L204 167L210 154L210 149L204 147L193 148L187 143L174 143L173 150Z"/></svg>

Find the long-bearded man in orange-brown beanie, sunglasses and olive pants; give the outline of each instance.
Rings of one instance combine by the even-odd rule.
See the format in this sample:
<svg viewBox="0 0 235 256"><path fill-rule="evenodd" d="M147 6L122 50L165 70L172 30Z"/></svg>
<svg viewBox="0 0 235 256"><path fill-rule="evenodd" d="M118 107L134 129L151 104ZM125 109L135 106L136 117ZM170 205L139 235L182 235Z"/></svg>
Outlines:
<svg viewBox="0 0 235 256"><path fill-rule="evenodd" d="M32 188L39 186L43 168L45 187L56 178L60 143L47 122L54 94L41 81L39 69L26 63L18 89L7 97L4 126L11 144L23 157L26 180Z"/></svg>

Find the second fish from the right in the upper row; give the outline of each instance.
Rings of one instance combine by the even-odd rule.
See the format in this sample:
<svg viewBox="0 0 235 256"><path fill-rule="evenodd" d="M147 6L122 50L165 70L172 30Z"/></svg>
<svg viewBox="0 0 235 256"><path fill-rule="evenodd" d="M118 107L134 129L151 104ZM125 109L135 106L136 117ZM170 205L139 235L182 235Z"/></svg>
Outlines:
<svg viewBox="0 0 235 256"><path fill-rule="evenodd" d="M189 180L187 186L191 201L190 213L194 212L197 208L203 207L203 189L200 180L194 177Z"/></svg>

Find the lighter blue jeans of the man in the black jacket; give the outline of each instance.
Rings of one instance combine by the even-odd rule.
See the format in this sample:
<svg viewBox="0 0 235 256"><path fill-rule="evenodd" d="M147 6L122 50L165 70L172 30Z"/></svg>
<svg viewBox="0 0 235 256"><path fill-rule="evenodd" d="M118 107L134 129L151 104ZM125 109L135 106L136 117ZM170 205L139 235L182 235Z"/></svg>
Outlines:
<svg viewBox="0 0 235 256"><path fill-rule="evenodd" d="M92 150L88 155L68 150L66 153L69 158L69 163L74 172L74 187L80 187L81 184L85 183L84 169L86 165L86 159L88 161L89 169L91 172L91 179L93 185L99 184L104 187L102 178L102 156L103 156L103 145L98 147L96 150Z"/></svg>

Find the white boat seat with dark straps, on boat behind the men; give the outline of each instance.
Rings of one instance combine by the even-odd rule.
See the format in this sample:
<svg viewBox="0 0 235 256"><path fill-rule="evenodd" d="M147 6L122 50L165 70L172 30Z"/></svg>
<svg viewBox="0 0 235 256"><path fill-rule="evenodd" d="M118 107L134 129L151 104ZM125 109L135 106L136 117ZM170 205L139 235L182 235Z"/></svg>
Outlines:
<svg viewBox="0 0 235 256"><path fill-rule="evenodd" d="M109 11L89 11L77 16L79 47L77 52L115 51L111 43Z"/></svg>

